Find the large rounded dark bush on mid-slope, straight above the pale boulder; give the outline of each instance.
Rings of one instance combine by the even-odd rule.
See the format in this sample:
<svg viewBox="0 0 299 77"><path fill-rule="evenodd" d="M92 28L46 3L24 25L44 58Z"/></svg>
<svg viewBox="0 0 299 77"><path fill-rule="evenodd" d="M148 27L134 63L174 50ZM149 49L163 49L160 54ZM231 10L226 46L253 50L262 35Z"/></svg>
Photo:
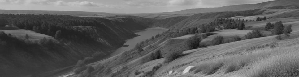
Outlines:
<svg viewBox="0 0 299 77"><path fill-rule="evenodd" d="M200 38L198 38L197 36L192 36L186 41L185 44L189 49L195 49L199 47L199 42Z"/></svg>

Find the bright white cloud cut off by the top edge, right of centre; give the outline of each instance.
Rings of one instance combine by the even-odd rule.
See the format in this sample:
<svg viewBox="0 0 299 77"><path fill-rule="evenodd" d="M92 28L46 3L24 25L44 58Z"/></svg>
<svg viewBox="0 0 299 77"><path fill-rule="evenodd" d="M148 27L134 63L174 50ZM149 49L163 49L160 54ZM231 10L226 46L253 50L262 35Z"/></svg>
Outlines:
<svg viewBox="0 0 299 77"><path fill-rule="evenodd" d="M169 3L172 5L180 5L180 6L186 6L186 5L196 5L200 2L200 0L170 0Z"/></svg>

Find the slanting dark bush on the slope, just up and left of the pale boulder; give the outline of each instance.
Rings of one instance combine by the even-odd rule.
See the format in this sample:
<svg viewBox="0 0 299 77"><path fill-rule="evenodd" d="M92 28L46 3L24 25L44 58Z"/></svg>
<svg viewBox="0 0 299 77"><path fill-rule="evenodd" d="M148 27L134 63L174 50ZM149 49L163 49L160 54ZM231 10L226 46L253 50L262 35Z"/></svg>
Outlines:
<svg viewBox="0 0 299 77"><path fill-rule="evenodd" d="M178 48L176 51L170 50L168 52L168 54L165 56L164 62L171 62L171 61L179 58L180 55L182 55L182 54L183 54L183 51L181 50L181 48Z"/></svg>

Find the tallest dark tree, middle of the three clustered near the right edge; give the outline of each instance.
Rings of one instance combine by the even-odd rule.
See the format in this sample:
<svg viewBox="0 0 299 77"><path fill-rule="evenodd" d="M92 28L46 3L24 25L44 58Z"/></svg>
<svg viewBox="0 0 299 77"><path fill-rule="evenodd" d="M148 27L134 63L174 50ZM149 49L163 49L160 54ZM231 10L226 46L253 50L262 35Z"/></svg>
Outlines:
<svg viewBox="0 0 299 77"><path fill-rule="evenodd" d="M276 22L274 24L274 29L272 30L272 34L275 35L279 35L279 34L283 34L283 29L284 29L284 25L282 24L282 22Z"/></svg>

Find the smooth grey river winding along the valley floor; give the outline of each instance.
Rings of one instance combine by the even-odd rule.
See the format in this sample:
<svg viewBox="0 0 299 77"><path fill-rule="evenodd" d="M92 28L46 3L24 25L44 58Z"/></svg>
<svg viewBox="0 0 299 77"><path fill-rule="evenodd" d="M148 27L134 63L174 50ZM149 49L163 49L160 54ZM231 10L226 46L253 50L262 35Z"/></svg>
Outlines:
<svg viewBox="0 0 299 77"><path fill-rule="evenodd" d="M113 53L111 53L111 56L115 56L119 53L122 53L123 51L128 51L135 47L137 43L140 43L141 41L144 41L146 39L150 39L152 36L156 36L157 34L161 34L163 31L167 31L168 29L160 28L160 27L151 27L147 28L145 30L136 31L135 34L138 34L140 36L127 39L126 43L124 45L129 45L128 47L120 47L116 49Z"/></svg>

